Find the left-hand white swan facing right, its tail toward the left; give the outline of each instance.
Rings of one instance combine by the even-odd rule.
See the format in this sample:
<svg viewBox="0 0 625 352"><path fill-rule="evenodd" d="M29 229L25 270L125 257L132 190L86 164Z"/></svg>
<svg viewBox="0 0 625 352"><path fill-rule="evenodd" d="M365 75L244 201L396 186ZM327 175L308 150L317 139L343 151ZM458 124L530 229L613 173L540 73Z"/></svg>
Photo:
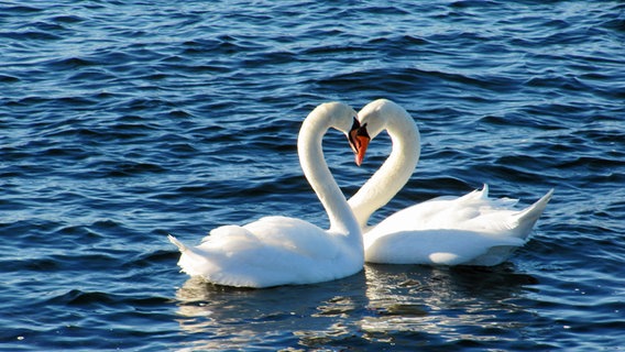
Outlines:
<svg viewBox="0 0 625 352"><path fill-rule="evenodd" d="M297 140L301 168L328 212L329 230L299 219L265 217L243 227L217 228L195 248L169 235L182 252L183 272L240 287L311 284L360 272L362 233L321 147L328 129L347 134L355 117L347 105L324 103L308 114Z"/></svg>

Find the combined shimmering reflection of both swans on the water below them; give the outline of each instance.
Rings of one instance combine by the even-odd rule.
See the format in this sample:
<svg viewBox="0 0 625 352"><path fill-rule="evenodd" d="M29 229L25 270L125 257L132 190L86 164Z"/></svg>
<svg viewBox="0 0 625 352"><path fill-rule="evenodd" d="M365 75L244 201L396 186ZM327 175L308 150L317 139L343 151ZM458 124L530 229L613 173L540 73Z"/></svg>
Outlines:
<svg viewBox="0 0 625 352"><path fill-rule="evenodd" d="M268 289L190 278L176 295L182 350L518 339L533 320L525 286L536 279L511 268L366 264L344 279Z"/></svg>

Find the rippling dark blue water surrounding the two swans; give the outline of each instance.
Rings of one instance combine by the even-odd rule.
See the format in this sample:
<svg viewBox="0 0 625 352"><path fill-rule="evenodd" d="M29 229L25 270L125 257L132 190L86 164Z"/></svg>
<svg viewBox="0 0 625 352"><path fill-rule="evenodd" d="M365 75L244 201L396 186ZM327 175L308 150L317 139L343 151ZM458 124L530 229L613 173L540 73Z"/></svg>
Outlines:
<svg viewBox="0 0 625 352"><path fill-rule="evenodd" d="M556 188L509 262L261 290L178 272L167 233L326 227L300 122L381 97L423 155L376 219ZM622 1L2 1L0 350L624 350L624 101ZM349 196L390 142L360 168L325 148Z"/></svg>

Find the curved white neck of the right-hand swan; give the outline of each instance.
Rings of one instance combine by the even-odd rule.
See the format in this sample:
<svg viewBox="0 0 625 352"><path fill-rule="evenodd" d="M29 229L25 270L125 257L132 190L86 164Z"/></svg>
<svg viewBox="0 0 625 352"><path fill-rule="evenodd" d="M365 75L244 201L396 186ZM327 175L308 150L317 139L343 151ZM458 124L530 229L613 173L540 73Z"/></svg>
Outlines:
<svg viewBox="0 0 625 352"><path fill-rule="evenodd" d="M366 228L371 215L406 185L420 156L419 130L408 112L395 103L387 103L380 113L386 114L385 129L393 150L380 169L349 200L362 229Z"/></svg>

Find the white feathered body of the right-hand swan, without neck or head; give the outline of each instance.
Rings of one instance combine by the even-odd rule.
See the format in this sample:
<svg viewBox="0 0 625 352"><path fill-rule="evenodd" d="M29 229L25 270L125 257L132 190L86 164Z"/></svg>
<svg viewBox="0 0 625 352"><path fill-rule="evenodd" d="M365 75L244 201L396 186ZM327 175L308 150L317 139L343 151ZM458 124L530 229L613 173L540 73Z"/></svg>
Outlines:
<svg viewBox="0 0 625 352"><path fill-rule="evenodd" d="M439 197L384 219L364 234L365 261L388 264L498 265L523 246L552 190L524 210L489 198L489 187Z"/></svg>

